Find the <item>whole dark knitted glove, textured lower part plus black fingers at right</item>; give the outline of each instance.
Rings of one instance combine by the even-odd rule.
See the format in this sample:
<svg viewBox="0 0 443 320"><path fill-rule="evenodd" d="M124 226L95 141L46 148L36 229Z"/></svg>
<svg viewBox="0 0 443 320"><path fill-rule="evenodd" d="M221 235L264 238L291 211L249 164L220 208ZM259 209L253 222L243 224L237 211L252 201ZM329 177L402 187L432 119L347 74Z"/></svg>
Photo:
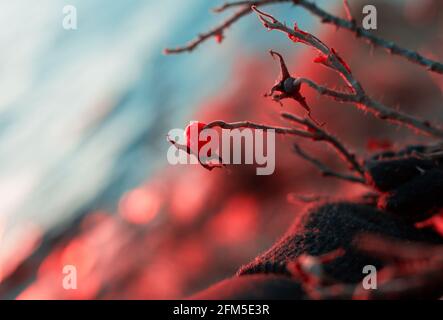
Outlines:
<svg viewBox="0 0 443 320"><path fill-rule="evenodd" d="M304 213L287 235L268 252L243 266L238 275L287 273L286 263L309 254L318 256L338 248L346 254L325 265L336 280L355 283L365 265L383 262L358 252L353 239L361 233L406 241L440 243L432 231L412 222L425 220L443 208L443 156L438 148L407 147L400 152L377 154L365 162L366 175L381 192L377 207L357 203L325 204Z"/></svg>

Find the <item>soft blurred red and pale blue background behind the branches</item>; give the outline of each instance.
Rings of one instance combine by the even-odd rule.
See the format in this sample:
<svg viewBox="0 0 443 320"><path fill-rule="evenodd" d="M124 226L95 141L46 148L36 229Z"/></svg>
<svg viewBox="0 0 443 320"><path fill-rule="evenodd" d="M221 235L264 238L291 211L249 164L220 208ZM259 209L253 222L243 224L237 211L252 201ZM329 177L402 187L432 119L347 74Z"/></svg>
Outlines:
<svg viewBox="0 0 443 320"><path fill-rule="evenodd" d="M316 1L344 16L342 1ZM364 1L350 1L361 19ZM443 58L443 4L375 1L377 33ZM78 30L62 28L74 5ZM277 168L209 172L171 166L166 134L191 120L282 124L262 94L278 75L268 49L294 74L342 88L315 53L248 16L191 54L165 56L229 13L220 1L0 2L0 298L183 298L235 274L303 210L291 194L358 196L322 178L279 137ZM321 37L386 104L443 122L441 77L371 50L347 31L289 4L267 11ZM360 154L423 142L304 89L314 116ZM302 115L292 102L285 109ZM332 166L331 150L302 142ZM78 289L62 287L74 265Z"/></svg>

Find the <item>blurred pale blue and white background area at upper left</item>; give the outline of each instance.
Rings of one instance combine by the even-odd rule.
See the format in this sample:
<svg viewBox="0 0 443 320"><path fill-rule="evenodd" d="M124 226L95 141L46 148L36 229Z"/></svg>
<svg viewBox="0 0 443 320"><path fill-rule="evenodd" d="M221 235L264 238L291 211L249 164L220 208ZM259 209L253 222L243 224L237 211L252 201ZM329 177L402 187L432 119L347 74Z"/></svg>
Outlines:
<svg viewBox="0 0 443 320"><path fill-rule="evenodd" d="M112 210L126 190L166 165L166 133L220 89L239 53L265 55L269 43L285 41L257 31L249 16L223 45L212 40L192 54L162 54L221 21L224 14L209 13L219 4L0 2L4 246L19 240L28 222L46 231L82 212ZM66 5L77 8L77 30L62 27ZM269 10L285 19L288 6ZM291 19L313 23L300 12L291 10Z"/></svg>

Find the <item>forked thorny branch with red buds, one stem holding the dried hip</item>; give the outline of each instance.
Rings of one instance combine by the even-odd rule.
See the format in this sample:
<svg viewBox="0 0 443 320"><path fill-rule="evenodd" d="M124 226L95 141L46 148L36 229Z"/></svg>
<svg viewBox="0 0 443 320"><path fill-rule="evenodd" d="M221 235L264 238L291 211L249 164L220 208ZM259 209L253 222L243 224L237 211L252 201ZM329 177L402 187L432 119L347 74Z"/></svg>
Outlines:
<svg viewBox="0 0 443 320"><path fill-rule="evenodd" d="M372 113L374 116L382 120L389 120L393 123L407 126L422 134L443 138L443 129L433 126L429 121L421 120L400 111L394 110L384 104L369 97L358 80L353 76L349 66L337 54L333 48L329 48L325 43L314 35L300 30L297 26L294 29L288 28L286 25L275 19L270 14L257 9L253 6L252 10L257 13L258 18L268 30L278 30L289 36L294 42L301 42L316 49L320 56L315 60L325 66L336 71L346 82L352 94L346 94L321 87L314 82L303 79L303 82L309 84L312 88L318 90L319 93L333 97L340 102L354 102L364 110ZM297 84L300 80L296 79Z"/></svg>

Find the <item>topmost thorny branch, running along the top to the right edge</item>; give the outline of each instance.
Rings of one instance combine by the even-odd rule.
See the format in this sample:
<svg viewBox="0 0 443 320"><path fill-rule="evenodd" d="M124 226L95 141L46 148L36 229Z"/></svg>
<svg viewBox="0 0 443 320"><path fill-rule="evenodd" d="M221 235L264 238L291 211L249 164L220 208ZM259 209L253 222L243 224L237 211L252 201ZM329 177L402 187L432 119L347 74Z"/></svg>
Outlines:
<svg viewBox="0 0 443 320"><path fill-rule="evenodd" d="M209 32L200 34L196 39L192 40L185 46L173 49L166 49L165 53L172 54L172 53L182 53L186 51L190 52L194 50L197 46L199 46L201 43L205 42L206 40L212 37L222 38L226 29L228 29L232 24L234 24L240 18L251 13L252 6L261 7L277 3L293 3L294 5L300 6L308 10L313 15L318 16L323 23L330 23L338 28L347 29L353 32L356 35L356 37L367 40L373 46L384 48L389 53L400 56L413 63L421 65L427 68L429 71L443 74L443 63L426 58L416 51L402 48L392 41L388 41L383 38L377 37L373 35L371 32L359 27L355 19L353 19L352 15L350 14L349 4L347 3L347 1L344 2L345 11L347 13L347 19L334 16L328 13L327 11L321 9L320 7L318 7L314 2L307 0L258 0L258 1L226 2L222 6L215 8L214 12L219 13L235 7L240 8L239 11L235 12L226 21L224 21L219 26L213 28Z"/></svg>

